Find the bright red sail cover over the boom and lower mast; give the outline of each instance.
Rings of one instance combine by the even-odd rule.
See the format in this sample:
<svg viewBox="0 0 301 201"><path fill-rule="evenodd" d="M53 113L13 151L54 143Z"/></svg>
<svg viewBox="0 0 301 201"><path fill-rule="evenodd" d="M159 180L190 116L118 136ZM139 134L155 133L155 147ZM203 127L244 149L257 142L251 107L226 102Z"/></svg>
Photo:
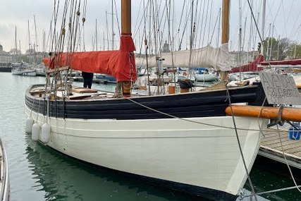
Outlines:
<svg viewBox="0 0 301 201"><path fill-rule="evenodd" d="M58 53L51 59L44 58L43 62L51 69L70 66L76 71L112 75L117 81L135 81L137 73L133 51L132 37L121 36L120 50Z"/></svg>

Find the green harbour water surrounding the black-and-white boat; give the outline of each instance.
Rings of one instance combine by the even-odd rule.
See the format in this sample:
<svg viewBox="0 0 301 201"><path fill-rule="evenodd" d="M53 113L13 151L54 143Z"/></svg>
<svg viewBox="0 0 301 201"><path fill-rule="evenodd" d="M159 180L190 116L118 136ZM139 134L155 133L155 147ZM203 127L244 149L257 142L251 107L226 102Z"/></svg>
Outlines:
<svg viewBox="0 0 301 201"><path fill-rule="evenodd" d="M1 139L8 156L11 201L23 200L200 200L153 186L136 178L70 159L54 152L25 133L24 95L31 84L44 83L43 77L23 77L0 73ZM81 86L81 83L76 83ZM92 87L111 90L112 85ZM262 162L263 161L263 162ZM285 175L269 171L264 159L257 160L250 174L255 191L293 186ZM288 172L288 170L285 170ZM299 183L300 185L300 181ZM245 188L250 189L246 184ZM265 196L269 200L301 200L301 193L288 190Z"/></svg>

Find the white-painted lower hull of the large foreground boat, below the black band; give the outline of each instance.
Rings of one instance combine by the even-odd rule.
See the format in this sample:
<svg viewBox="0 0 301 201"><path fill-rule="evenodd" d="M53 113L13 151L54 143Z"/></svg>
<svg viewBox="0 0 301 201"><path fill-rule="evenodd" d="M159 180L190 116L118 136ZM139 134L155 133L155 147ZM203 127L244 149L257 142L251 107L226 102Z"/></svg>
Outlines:
<svg viewBox="0 0 301 201"><path fill-rule="evenodd" d="M30 116L30 109L25 106ZM32 111L39 126L42 114ZM188 118L233 127L231 116ZM267 121L235 117L244 129L259 129ZM176 118L154 120L49 118L49 147L85 162L165 181L195 185L237 195L246 172L235 130L205 126ZM264 127L263 127L264 128ZM259 150L260 133L238 130L250 169Z"/></svg>

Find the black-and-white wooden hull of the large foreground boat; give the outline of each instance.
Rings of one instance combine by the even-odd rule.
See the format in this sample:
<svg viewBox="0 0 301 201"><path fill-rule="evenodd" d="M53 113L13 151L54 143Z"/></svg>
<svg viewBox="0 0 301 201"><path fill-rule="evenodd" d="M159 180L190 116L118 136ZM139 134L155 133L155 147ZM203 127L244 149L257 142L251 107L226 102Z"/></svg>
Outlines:
<svg viewBox="0 0 301 201"><path fill-rule="evenodd" d="M44 142L63 154L214 200L233 199L245 183L235 130L229 126L232 117L224 113L226 90L130 99L109 98L102 92L94 94L98 99L78 99L73 92L77 100L70 96L65 101L39 97L40 90L41 86L28 88L25 113L39 130L49 124L49 141ZM257 90L233 88L231 99L255 104ZM250 171L261 138L254 130L267 121L235 121L245 128L239 138ZM42 135L43 131L40 140Z"/></svg>

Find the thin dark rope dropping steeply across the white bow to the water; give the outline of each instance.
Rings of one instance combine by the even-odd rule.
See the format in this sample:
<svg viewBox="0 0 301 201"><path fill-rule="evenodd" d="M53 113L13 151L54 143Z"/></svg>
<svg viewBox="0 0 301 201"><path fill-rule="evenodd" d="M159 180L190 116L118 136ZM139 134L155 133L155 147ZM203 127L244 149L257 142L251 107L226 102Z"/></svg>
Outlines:
<svg viewBox="0 0 301 201"><path fill-rule="evenodd" d="M254 196L255 200L258 201L258 200L257 200L256 193L255 193L255 190L254 190L254 185L253 185L253 183L252 183L252 181L251 181L251 178L250 178L250 173L249 173L249 171L247 170L247 164L246 164L246 162L245 162L245 157L243 156L242 147L241 147L241 144L240 144L240 138L239 138L239 136L238 136L238 130L236 129L236 123L235 123L235 118L234 118L234 116L233 116L233 110L232 110L232 104L231 104L231 97L230 97L229 88L228 88L228 87L226 87L226 88L227 88L228 101L229 101L229 105L230 105L230 109L231 109L231 116L232 116L232 119L233 119L233 126L234 126L234 128L235 128L235 135L236 135L236 139L238 140L238 147L239 147L239 149L240 149L240 155L241 155L241 157L242 157L242 163L243 163L243 166L245 166L245 171L246 171L246 173L247 173L247 180L249 181L250 186L251 186L251 189L252 189L252 195ZM252 196L252 197L253 197L253 196Z"/></svg>

